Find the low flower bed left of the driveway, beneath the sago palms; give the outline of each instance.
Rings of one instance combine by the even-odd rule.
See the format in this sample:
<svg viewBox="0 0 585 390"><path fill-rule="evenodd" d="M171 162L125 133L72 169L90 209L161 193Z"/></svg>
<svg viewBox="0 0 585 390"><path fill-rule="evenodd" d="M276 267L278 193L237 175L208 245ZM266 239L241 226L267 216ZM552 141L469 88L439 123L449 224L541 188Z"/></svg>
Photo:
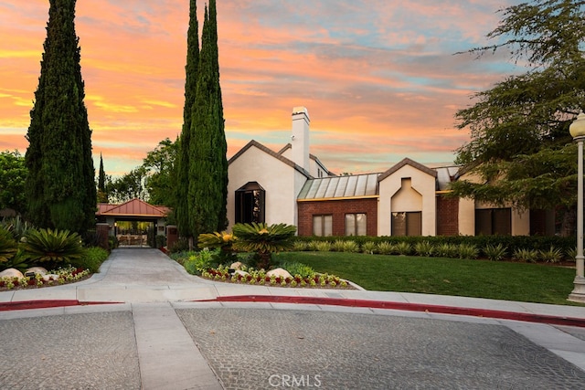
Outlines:
<svg viewBox="0 0 585 390"><path fill-rule="evenodd" d="M25 278L0 278L0 291L38 289L42 287L74 283L88 278L90 278L89 269L76 269L73 267L55 269L48 272L47 279L44 279L41 274L35 274L34 277Z"/></svg>

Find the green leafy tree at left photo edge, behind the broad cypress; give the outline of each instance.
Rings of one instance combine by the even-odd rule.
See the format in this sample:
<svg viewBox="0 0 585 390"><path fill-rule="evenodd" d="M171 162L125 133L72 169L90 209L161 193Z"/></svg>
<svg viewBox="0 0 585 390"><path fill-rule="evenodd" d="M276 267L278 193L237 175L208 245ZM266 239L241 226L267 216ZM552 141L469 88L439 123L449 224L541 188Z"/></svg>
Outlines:
<svg viewBox="0 0 585 390"><path fill-rule="evenodd" d="M12 208L19 213L26 211L27 174L25 157L18 151L0 153L0 210Z"/></svg>

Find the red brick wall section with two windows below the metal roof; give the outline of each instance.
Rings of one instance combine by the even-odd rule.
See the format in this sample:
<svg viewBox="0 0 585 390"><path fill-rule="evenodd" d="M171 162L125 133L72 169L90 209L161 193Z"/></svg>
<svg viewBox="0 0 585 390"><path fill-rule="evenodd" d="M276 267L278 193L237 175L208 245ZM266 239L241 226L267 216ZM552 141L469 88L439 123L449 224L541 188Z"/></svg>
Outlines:
<svg viewBox="0 0 585 390"><path fill-rule="evenodd" d="M367 215L367 236L378 236L378 198L299 202L298 235L313 235L313 216L332 215L333 235L346 234L346 214Z"/></svg>

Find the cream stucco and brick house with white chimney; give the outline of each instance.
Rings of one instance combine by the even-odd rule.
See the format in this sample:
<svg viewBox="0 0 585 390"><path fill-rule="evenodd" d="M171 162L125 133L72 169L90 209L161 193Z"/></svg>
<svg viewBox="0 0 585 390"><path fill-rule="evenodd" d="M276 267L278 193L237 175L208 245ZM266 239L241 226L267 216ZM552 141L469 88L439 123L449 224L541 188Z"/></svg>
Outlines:
<svg viewBox="0 0 585 390"><path fill-rule="evenodd" d="M293 109L291 142L274 152L250 141L229 159L229 228L285 223L299 236L552 234L549 213L448 196L457 166L405 158L386 172L335 175L310 150L310 118Z"/></svg>

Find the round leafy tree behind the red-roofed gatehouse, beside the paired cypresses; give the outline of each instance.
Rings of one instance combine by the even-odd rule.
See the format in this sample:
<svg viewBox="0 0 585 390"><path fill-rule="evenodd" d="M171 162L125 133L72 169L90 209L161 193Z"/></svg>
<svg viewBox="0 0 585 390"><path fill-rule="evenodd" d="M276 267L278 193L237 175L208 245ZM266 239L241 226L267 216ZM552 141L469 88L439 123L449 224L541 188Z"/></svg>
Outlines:
<svg viewBox="0 0 585 390"><path fill-rule="evenodd" d="M149 202L154 205L175 206L175 162L178 141L168 138L158 143L144 158L143 167L148 172L145 189Z"/></svg>

